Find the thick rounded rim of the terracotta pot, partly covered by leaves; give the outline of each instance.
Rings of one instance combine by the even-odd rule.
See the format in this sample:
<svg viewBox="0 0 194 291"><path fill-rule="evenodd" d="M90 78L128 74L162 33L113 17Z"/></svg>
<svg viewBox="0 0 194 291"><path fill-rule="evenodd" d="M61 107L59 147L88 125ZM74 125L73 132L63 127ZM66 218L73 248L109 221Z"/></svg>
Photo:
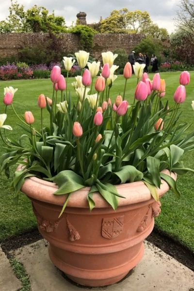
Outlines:
<svg viewBox="0 0 194 291"><path fill-rule="evenodd" d="M17 168L19 170L21 165ZM171 176L174 180L177 179L177 175L168 170L163 170L163 173ZM162 179L161 189L158 189L159 197L166 193L170 187ZM115 185L119 194L126 198L119 198L118 206L127 206L135 203L145 202L152 198L149 189L146 187L143 181L119 184ZM21 191L32 199L36 199L49 204L63 206L67 194L54 195L53 193L58 189L58 186L52 182L42 180L36 177L26 178L21 188ZM89 208L87 201L87 194L90 187L84 187L71 194L67 207L75 208ZM111 206L102 198L102 196L95 192L93 194L93 200L95 201L95 208L111 208Z"/></svg>

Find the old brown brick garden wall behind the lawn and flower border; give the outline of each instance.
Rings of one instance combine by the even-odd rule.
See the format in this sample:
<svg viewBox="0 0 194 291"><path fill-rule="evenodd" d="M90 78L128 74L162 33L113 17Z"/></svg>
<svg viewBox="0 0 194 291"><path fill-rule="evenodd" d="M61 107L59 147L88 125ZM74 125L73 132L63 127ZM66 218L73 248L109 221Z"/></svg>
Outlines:
<svg viewBox="0 0 194 291"><path fill-rule="evenodd" d="M144 37L143 34L97 33L94 36L94 48L90 52L96 59L100 59L101 52L107 50L122 48L129 53ZM22 47L33 46L48 38L49 33L0 33L0 59L17 57ZM59 41L64 52L81 49L80 38L74 33L62 33Z"/></svg>

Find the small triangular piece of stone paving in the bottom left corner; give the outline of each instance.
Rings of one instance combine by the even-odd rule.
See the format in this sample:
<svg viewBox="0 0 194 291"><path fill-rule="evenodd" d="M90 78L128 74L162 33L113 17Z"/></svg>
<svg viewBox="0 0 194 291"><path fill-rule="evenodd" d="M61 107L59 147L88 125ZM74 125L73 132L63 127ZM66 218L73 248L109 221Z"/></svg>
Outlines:
<svg viewBox="0 0 194 291"><path fill-rule="evenodd" d="M9 260L0 248L0 291L17 291L21 287Z"/></svg>

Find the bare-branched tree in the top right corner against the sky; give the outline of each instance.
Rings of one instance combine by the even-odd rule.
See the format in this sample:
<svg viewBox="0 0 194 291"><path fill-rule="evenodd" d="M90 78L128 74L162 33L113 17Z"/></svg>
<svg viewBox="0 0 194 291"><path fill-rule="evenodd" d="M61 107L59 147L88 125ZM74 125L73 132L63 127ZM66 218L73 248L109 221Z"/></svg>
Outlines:
<svg viewBox="0 0 194 291"><path fill-rule="evenodd" d="M194 33L194 0L180 0L176 26L185 32Z"/></svg>

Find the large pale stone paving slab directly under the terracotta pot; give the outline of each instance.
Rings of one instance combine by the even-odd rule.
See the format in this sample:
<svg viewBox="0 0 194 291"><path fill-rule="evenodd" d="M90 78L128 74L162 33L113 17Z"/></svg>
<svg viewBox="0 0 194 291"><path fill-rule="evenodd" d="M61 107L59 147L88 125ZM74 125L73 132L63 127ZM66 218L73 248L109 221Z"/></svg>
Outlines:
<svg viewBox="0 0 194 291"><path fill-rule="evenodd" d="M84 291L68 282L50 261L48 242L40 240L14 252L30 275L32 291ZM131 275L120 283L95 291L194 291L194 272L145 242L145 255Z"/></svg>

